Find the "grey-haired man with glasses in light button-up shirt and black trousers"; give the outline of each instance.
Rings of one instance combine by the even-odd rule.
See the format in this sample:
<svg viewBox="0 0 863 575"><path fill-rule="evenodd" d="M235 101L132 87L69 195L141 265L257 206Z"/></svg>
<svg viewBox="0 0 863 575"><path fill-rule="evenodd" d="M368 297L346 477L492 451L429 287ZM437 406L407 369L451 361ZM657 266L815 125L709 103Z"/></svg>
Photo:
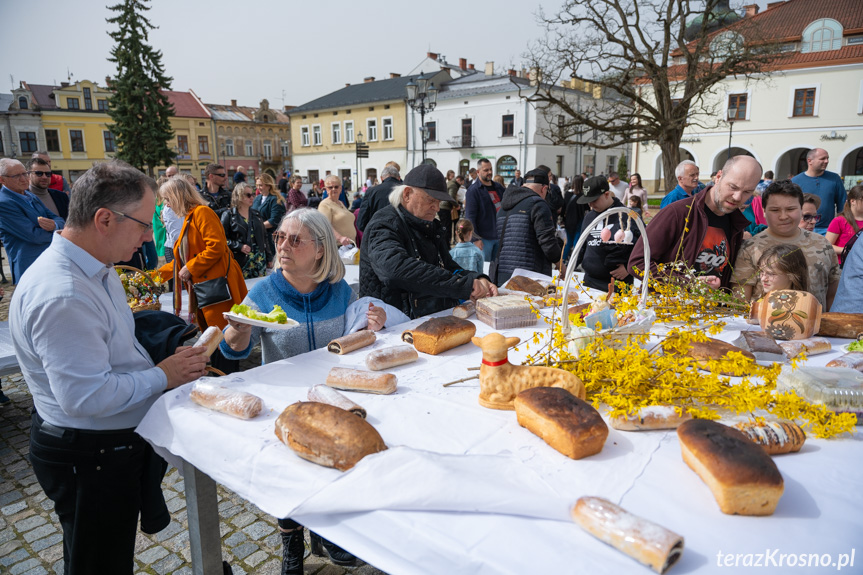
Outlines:
<svg viewBox="0 0 863 575"><path fill-rule="evenodd" d="M135 427L162 392L205 373L202 348L154 365L113 267L153 239L154 192L122 162L88 170L9 309L35 407L30 461L63 527L66 573L131 575L139 514L146 532L167 526L164 462Z"/></svg>

